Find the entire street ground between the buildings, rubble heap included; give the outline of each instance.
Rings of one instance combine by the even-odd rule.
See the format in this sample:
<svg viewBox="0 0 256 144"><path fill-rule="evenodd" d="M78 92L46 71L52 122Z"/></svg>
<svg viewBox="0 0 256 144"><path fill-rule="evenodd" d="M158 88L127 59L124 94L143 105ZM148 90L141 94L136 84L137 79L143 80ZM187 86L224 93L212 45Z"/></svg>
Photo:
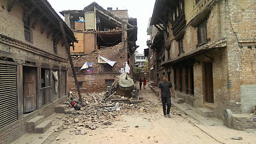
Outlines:
<svg viewBox="0 0 256 144"><path fill-rule="evenodd" d="M71 97L78 99L77 94L72 94L66 104L70 104ZM103 100L104 92L82 94L85 106L81 111L70 108L73 109L68 111L70 114L57 117L61 123L56 124L58 129L44 143L253 143L255 140L249 133L223 125L203 125L173 107L171 118L163 117L161 101L148 87L140 90L139 97L138 104L126 104L122 101L127 99L121 96ZM120 111L116 111L116 99ZM231 139L233 136L243 139Z"/></svg>

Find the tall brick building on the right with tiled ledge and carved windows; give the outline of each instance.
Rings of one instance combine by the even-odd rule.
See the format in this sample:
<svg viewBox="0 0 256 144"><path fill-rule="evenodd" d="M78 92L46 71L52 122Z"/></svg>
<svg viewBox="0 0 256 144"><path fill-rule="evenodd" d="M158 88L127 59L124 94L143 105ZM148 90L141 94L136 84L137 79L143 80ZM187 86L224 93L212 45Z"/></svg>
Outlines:
<svg viewBox="0 0 256 144"><path fill-rule="evenodd" d="M156 0L150 26L158 32L148 41L155 84L167 75L199 114L225 119L230 109L233 128L255 128L254 8L251 1Z"/></svg>

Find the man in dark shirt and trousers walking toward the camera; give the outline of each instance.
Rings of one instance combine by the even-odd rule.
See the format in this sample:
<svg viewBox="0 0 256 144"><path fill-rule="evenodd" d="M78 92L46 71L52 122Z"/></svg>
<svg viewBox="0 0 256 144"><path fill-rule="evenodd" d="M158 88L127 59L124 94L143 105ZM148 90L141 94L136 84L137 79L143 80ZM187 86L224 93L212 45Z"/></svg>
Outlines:
<svg viewBox="0 0 256 144"><path fill-rule="evenodd" d="M163 81L159 84L159 99L162 99L164 117L171 117L171 115L170 115L170 108L171 108L170 89L172 91L174 99L175 99L175 92L172 87L172 83L170 81L167 81L166 75L163 75L162 79L163 79ZM167 105L167 112L166 112L165 105ZM166 116L166 114L167 114L167 116Z"/></svg>

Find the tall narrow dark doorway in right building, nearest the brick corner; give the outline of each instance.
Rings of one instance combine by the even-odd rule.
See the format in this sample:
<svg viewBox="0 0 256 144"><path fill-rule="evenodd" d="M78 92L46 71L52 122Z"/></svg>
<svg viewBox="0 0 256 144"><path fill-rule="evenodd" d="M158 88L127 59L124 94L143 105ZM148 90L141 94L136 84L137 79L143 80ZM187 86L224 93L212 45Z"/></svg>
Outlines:
<svg viewBox="0 0 256 144"><path fill-rule="evenodd" d="M213 78L212 78L212 63L204 64L204 94L206 103L214 103L213 99Z"/></svg>

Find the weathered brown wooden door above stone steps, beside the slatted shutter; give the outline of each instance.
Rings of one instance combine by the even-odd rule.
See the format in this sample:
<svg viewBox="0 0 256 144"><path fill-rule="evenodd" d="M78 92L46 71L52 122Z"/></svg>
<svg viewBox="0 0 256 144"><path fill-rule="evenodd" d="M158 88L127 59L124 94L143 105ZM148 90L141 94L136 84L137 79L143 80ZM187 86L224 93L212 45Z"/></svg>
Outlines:
<svg viewBox="0 0 256 144"><path fill-rule="evenodd" d="M36 68L23 67L23 101L24 113L36 109Z"/></svg>

